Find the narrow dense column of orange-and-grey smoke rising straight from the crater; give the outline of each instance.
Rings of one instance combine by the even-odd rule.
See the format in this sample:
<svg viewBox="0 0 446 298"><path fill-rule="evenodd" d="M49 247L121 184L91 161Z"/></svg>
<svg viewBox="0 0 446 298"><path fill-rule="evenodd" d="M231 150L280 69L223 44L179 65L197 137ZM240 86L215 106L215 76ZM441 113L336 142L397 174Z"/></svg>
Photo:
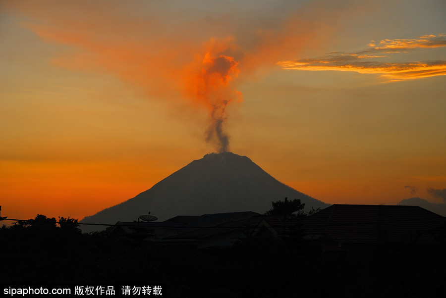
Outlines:
<svg viewBox="0 0 446 298"><path fill-rule="evenodd" d="M234 99L242 100L241 93L230 85L232 78L238 75L237 65L238 62L232 57L211 57L210 53L206 53L203 67L197 75L195 96L210 113L211 124L206 130L206 142L215 144L219 153L229 149L229 137L224 132L226 107Z"/></svg>

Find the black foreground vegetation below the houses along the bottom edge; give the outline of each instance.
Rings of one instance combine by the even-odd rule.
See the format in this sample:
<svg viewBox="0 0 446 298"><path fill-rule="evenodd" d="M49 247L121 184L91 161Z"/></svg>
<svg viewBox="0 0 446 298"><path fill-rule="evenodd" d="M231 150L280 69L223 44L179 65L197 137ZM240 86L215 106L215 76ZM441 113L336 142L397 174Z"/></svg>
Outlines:
<svg viewBox="0 0 446 298"><path fill-rule="evenodd" d="M322 254L299 238L251 238L231 248L199 250L145 242L129 246L105 232L71 232L43 226L0 229L1 290L21 285L74 292L75 286L113 285L115 297L122 297L122 286L160 286L161 297L167 298L446 294L444 243L382 244Z"/></svg>

